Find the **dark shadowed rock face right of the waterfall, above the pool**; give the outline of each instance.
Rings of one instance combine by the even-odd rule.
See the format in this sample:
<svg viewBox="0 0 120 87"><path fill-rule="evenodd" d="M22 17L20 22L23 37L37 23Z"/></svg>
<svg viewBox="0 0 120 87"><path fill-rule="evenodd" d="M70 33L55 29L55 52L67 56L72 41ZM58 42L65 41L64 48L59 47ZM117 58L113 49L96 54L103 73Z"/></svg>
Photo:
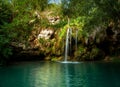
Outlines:
<svg viewBox="0 0 120 87"><path fill-rule="evenodd" d="M97 27L87 39L83 38L86 51L80 54L81 60L99 60L108 56L120 55L120 28ZM85 41L87 40L87 41Z"/></svg>

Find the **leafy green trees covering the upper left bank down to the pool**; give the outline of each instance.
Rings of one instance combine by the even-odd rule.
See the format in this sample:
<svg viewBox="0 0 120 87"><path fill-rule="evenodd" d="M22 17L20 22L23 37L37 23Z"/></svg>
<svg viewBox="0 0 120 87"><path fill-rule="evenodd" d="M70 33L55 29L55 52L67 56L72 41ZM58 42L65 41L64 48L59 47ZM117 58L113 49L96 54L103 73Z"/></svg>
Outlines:
<svg viewBox="0 0 120 87"><path fill-rule="evenodd" d="M0 0L0 61L12 54L11 42L26 43L36 19L34 12L43 11L48 0ZM19 37L19 38L18 38Z"/></svg>

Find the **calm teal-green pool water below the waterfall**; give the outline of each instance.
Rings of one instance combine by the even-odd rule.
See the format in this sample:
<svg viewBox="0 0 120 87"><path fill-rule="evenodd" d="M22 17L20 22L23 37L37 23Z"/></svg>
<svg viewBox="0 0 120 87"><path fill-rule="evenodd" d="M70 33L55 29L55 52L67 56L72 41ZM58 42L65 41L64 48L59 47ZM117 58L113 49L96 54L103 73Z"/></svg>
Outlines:
<svg viewBox="0 0 120 87"><path fill-rule="evenodd" d="M19 63L0 67L0 87L120 87L120 64Z"/></svg>

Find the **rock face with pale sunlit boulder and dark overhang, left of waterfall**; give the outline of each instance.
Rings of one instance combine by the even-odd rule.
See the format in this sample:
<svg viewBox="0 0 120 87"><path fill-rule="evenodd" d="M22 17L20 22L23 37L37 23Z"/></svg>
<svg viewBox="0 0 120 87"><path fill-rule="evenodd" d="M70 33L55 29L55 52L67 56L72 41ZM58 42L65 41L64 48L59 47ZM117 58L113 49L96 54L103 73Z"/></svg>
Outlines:
<svg viewBox="0 0 120 87"><path fill-rule="evenodd" d="M54 30L43 29L38 33L36 32L32 32L27 44L19 42L11 43L13 47L13 60L42 60L46 54L50 54L50 48L53 46Z"/></svg>

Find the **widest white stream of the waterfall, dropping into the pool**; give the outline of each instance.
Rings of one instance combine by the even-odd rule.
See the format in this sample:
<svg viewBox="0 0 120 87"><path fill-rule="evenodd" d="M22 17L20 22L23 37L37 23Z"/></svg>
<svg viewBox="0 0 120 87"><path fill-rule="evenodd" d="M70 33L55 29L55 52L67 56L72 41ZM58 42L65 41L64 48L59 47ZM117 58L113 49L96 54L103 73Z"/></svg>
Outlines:
<svg viewBox="0 0 120 87"><path fill-rule="evenodd" d="M71 29L67 29L67 35L66 35L66 43L65 43L65 59L64 59L64 62L67 61L67 56L68 56L68 52L69 52L69 38L71 38Z"/></svg>

